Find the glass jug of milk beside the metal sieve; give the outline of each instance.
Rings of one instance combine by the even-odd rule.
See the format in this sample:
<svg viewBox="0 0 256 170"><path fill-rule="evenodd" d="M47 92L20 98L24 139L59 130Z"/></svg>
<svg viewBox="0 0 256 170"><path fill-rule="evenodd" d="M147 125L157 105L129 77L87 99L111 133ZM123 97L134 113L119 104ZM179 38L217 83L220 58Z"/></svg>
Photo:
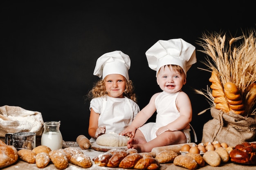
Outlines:
<svg viewBox="0 0 256 170"><path fill-rule="evenodd" d="M41 137L41 145L48 146L51 150L62 148L62 135L60 131L61 121L44 122L44 132Z"/></svg>

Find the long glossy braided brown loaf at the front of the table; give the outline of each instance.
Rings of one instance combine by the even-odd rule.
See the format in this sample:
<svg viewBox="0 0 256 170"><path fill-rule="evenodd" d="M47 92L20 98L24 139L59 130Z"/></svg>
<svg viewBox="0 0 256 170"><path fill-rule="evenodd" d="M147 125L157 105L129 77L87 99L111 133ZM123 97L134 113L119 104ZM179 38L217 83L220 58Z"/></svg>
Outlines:
<svg viewBox="0 0 256 170"><path fill-rule="evenodd" d="M95 165L119 168L157 170L160 163L150 154L128 152L126 150L109 150L92 159Z"/></svg>

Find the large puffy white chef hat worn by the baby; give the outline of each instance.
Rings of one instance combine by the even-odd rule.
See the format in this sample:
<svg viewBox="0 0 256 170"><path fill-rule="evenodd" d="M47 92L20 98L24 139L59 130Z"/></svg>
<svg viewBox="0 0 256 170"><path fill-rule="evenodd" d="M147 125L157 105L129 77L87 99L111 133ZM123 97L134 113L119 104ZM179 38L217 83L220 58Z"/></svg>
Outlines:
<svg viewBox="0 0 256 170"><path fill-rule="evenodd" d="M159 40L146 51L148 66L157 71L168 64L181 66L184 73L196 62L195 46L178 39ZM156 73L156 74L157 74Z"/></svg>

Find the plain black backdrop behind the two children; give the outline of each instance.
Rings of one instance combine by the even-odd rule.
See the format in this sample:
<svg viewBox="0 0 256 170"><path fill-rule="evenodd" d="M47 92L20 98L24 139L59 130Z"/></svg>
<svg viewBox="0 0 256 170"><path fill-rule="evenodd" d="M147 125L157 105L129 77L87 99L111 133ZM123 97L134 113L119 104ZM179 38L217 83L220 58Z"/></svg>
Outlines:
<svg viewBox="0 0 256 170"><path fill-rule="evenodd" d="M89 138L90 102L84 96L99 79L93 71L103 53L121 50L130 56L129 75L143 108L160 91L145 56L155 42L183 38L198 50L196 42L205 31L235 36L255 27L253 1L202 2L1 1L0 106L39 111L44 121L60 120L65 141L81 134ZM209 104L193 91L210 85L210 73L198 69L206 68L200 63L204 58L197 52L183 88L192 102L191 124L199 141L204 123L212 119L209 111L198 115Z"/></svg>

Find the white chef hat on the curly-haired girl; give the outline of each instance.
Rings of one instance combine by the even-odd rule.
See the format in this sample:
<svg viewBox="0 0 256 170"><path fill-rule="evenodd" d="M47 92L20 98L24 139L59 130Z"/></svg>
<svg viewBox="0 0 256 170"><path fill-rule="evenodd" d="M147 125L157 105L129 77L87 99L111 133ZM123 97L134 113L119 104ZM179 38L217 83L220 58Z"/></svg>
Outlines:
<svg viewBox="0 0 256 170"><path fill-rule="evenodd" d="M120 74L129 80L130 57L122 51L112 51L101 55L96 62L93 75L104 79L110 74Z"/></svg>

